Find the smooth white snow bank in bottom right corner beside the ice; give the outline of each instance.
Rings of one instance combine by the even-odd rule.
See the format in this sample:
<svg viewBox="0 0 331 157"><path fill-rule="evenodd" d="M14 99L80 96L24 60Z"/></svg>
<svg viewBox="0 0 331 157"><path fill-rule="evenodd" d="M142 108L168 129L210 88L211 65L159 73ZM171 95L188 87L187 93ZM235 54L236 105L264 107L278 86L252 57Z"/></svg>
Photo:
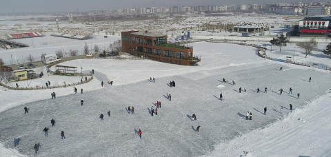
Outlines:
<svg viewBox="0 0 331 157"><path fill-rule="evenodd" d="M331 94L320 96L272 125L221 143L209 156L331 156L330 102Z"/></svg>

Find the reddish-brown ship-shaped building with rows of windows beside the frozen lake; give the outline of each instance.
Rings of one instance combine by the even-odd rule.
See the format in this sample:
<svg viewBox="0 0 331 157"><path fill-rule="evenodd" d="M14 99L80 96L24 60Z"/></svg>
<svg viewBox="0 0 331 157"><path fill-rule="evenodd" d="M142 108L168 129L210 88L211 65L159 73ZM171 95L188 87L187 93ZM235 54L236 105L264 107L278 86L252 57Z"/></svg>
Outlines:
<svg viewBox="0 0 331 157"><path fill-rule="evenodd" d="M201 61L193 55L192 46L168 43L168 36L139 31L121 32L123 52L133 52L154 61L192 65Z"/></svg>

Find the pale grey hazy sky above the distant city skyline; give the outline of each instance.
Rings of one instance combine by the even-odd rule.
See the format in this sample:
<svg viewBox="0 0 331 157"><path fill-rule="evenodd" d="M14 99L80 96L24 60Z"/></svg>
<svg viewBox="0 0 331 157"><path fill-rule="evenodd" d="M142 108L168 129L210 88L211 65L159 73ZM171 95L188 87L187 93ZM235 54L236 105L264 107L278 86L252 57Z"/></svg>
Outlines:
<svg viewBox="0 0 331 157"><path fill-rule="evenodd" d="M228 4L283 3L299 0L0 0L0 12L115 10L170 6L221 6ZM301 0L308 1L308 0Z"/></svg>

